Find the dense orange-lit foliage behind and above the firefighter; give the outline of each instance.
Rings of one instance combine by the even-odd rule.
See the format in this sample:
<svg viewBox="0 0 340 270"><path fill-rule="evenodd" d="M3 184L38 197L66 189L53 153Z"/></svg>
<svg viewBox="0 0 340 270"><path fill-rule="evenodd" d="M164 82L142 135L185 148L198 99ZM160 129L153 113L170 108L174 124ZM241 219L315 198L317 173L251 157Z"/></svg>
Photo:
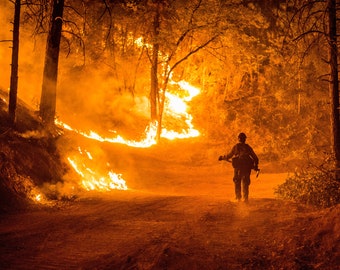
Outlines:
<svg viewBox="0 0 340 270"><path fill-rule="evenodd" d="M209 136L234 142L244 131L266 161L301 158L306 152L317 155L330 144L328 83L322 80L328 67L320 61L326 52L313 46L302 59L296 45L283 39L287 11L277 5L270 8L272 13L275 8L281 14L277 20L269 8L244 7L242 24L261 25L248 24L252 31L229 27L220 40L223 46L211 48L218 60L204 56L209 64L203 62L201 69L209 76L202 74L200 84L207 90L196 106L204 110L202 117L209 117L202 121Z"/></svg>

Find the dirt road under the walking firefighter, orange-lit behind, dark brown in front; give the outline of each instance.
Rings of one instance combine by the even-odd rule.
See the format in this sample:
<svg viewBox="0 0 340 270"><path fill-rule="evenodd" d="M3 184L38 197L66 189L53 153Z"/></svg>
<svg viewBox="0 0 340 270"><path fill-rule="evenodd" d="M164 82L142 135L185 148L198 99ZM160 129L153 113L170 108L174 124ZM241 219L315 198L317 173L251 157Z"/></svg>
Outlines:
<svg viewBox="0 0 340 270"><path fill-rule="evenodd" d="M335 269L339 208L275 199L286 174L264 169L236 203L217 153L109 150L130 190L0 216L1 269Z"/></svg>

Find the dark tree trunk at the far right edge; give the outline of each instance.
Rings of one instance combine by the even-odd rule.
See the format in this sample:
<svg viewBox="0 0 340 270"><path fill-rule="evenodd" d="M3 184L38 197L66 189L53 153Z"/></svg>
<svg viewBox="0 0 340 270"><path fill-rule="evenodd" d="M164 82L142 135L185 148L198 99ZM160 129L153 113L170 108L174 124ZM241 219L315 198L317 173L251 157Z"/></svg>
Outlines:
<svg viewBox="0 0 340 270"><path fill-rule="evenodd" d="M328 0L329 14L329 42L330 42L330 97L331 97L331 128L332 148L335 156L336 178L340 180L340 117L339 117L339 73L338 73L338 49L336 29L336 0Z"/></svg>

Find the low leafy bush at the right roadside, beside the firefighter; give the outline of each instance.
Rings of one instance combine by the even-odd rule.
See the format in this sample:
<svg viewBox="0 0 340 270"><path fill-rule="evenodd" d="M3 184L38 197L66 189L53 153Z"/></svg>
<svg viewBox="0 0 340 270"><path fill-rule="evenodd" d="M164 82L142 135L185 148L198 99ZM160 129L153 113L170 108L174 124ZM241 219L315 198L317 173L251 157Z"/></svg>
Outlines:
<svg viewBox="0 0 340 270"><path fill-rule="evenodd" d="M330 207L340 203L340 182L325 166L309 167L289 176L276 188L275 194L305 204Z"/></svg>

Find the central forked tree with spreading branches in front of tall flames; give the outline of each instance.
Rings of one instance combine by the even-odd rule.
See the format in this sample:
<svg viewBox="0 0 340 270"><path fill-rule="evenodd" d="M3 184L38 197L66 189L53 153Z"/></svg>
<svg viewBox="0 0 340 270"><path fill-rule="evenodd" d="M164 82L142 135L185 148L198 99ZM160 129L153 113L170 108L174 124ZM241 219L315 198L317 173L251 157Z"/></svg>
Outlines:
<svg viewBox="0 0 340 270"><path fill-rule="evenodd" d="M145 48L151 66L150 112L151 121L157 122L157 139L162 132L165 95L173 71L220 35L219 10L211 9L214 6L209 4L202 0L186 4L146 1L136 6L140 18L151 18L139 44Z"/></svg>

